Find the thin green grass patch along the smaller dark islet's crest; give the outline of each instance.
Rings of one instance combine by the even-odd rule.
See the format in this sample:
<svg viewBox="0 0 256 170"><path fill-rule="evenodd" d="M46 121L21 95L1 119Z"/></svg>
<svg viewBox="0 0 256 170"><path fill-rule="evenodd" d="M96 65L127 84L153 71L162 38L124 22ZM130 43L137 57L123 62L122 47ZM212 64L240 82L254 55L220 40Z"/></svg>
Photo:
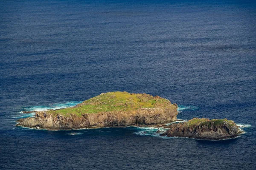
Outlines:
<svg viewBox="0 0 256 170"><path fill-rule="evenodd" d="M227 125L235 125L235 123L232 120L227 120L227 119L206 119L206 118L193 118L191 120L189 120L187 123L188 127L194 127L194 126L198 126L198 125L222 125L224 124L224 122L227 123Z"/></svg>

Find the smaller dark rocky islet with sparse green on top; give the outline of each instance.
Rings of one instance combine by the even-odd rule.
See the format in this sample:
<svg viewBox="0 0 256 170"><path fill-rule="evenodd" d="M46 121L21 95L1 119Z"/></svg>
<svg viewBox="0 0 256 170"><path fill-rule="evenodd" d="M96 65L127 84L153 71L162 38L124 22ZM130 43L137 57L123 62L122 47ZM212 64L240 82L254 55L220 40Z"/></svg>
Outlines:
<svg viewBox="0 0 256 170"><path fill-rule="evenodd" d="M194 118L188 122L171 124L165 128L169 130L166 130L161 136L208 140L235 138L240 133L239 127L233 121L227 119Z"/></svg>

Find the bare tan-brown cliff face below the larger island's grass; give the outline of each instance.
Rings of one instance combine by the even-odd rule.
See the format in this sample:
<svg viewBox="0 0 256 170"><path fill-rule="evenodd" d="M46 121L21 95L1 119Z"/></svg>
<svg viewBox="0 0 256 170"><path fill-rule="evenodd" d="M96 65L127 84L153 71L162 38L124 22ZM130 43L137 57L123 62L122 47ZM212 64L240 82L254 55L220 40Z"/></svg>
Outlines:
<svg viewBox="0 0 256 170"><path fill-rule="evenodd" d="M17 120L17 126L47 129L66 130L99 127L127 127L158 125L176 121L177 111L166 108L141 108L133 112L105 112L83 114L77 116L53 116L46 111L38 111L35 117Z"/></svg>

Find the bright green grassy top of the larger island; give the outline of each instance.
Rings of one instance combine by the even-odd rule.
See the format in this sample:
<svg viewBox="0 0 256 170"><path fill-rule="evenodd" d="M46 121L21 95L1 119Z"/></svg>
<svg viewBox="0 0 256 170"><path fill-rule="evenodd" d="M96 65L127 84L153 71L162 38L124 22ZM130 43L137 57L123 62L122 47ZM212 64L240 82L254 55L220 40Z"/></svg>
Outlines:
<svg viewBox="0 0 256 170"><path fill-rule="evenodd" d="M139 108L155 108L171 105L168 99L149 94L130 94L128 92L108 92L88 99L75 107L59 110L50 110L48 113L53 115L77 114L83 113L101 113L109 111L133 111Z"/></svg>

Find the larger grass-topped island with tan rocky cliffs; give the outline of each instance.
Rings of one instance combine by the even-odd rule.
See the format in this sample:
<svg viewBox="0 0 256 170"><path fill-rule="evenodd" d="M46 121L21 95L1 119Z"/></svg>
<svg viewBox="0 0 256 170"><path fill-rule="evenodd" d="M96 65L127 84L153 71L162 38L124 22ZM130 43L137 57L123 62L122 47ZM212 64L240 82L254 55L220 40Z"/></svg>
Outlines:
<svg viewBox="0 0 256 170"><path fill-rule="evenodd" d="M49 130L145 126L175 121L177 104L148 94L108 92L72 108L38 111L17 126Z"/></svg>

